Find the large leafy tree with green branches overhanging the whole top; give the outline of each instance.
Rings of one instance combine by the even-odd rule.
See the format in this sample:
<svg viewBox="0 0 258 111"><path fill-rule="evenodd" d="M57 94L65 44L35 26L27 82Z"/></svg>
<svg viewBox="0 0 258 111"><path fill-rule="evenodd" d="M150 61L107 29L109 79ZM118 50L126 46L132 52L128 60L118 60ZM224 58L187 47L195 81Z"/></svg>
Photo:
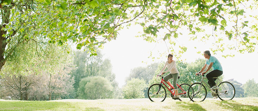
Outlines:
<svg viewBox="0 0 258 111"><path fill-rule="evenodd" d="M59 45L72 41L96 55L96 47L115 39L133 22L143 27L144 40L169 42L171 52L187 50L180 44L181 50L174 50L182 30L195 41L213 38L213 52L253 52L257 15L245 12L256 10L256 5L255 0L3 0L0 69L20 43L40 37ZM158 36L158 32L166 33Z"/></svg>

